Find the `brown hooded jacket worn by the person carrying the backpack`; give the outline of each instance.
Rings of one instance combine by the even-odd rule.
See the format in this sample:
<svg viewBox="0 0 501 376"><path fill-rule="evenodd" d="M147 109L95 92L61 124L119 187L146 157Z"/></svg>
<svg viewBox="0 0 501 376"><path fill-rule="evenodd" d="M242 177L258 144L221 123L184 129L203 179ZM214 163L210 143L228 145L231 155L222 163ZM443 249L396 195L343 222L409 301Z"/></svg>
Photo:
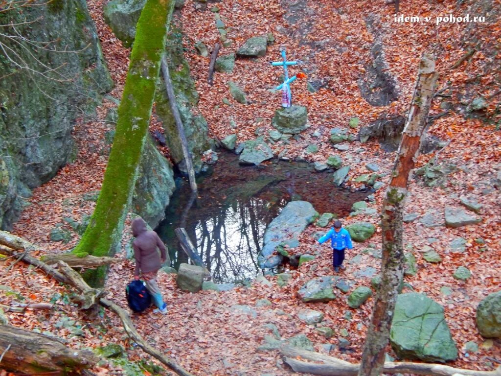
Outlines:
<svg viewBox="0 0 501 376"><path fill-rule="evenodd" d="M134 275L138 276L139 271L143 273L156 272L165 262L165 246L154 231L146 229L146 223L141 218L132 221L132 235L136 238L132 243L134 248L134 258L136 259L136 270ZM157 247L161 256L158 255Z"/></svg>

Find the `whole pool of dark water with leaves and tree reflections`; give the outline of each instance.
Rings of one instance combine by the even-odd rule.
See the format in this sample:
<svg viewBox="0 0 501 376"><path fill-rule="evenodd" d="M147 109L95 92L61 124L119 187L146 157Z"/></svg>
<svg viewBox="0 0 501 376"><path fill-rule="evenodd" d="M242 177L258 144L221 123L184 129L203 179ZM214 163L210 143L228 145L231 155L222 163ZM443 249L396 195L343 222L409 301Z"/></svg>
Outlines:
<svg viewBox="0 0 501 376"><path fill-rule="evenodd" d="M273 160L266 165L242 166L237 155L220 151L211 171L197 178L194 201L188 182L176 179L177 190L165 220L156 229L169 248L171 266L177 269L188 262L174 233L184 227L212 281L253 279L259 270L257 256L266 227L290 201L305 200L320 214L329 212L341 218L349 214L353 203L369 194L336 187L332 174L332 170L316 172L306 162Z"/></svg>

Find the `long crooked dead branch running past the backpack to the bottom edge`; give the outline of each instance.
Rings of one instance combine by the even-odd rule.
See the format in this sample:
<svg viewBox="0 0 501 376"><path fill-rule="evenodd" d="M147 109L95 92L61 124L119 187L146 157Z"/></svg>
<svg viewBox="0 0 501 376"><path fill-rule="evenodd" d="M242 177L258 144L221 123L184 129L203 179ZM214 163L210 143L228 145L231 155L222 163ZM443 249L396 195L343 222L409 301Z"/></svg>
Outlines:
<svg viewBox="0 0 501 376"><path fill-rule="evenodd" d="M27 255L26 252L16 252L13 249L9 249L6 247L0 247L0 253L5 254L7 256L11 256L14 258L19 258L25 262L28 262L31 265L36 266L37 268L42 269L47 274L54 277L56 280L62 283L69 284L75 287L80 296L77 297L76 301L81 305L83 309L91 309L95 306L95 304L99 304L105 308L108 308L115 312L122 321L123 328L127 335L138 344L138 346L146 353L150 354L179 376L193 376L191 373L187 372L184 368L182 368L174 359L169 358L168 356L163 355L156 348L151 346L148 342L146 342L139 332L134 327L134 323L130 319L127 311L115 303L111 302L108 299L104 299L102 296L104 294L102 289L95 289L90 287L84 279L75 272L72 268L70 268L64 261L59 261L58 266L60 270L56 270L55 268L47 265L43 261L36 259L30 255ZM3 326L0 325L0 328ZM0 345L2 344L3 332L0 330ZM7 353L8 351L6 351Z"/></svg>

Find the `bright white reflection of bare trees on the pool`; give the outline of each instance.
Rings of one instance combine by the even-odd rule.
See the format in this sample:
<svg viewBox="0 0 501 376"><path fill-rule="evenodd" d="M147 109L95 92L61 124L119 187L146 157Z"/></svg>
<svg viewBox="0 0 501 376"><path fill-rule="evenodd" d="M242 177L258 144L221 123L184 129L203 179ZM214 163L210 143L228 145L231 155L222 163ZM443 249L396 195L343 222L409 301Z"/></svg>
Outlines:
<svg viewBox="0 0 501 376"><path fill-rule="evenodd" d="M278 215L278 205L259 198L220 207L205 220L187 221L186 231L216 283L254 278L258 270L267 224Z"/></svg>

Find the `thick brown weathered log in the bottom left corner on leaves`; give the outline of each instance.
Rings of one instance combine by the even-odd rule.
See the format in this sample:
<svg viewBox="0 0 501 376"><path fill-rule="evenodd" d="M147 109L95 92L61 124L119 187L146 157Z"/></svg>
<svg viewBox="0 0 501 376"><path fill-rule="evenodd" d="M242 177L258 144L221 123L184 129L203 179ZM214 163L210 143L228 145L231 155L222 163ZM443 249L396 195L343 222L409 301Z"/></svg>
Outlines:
<svg viewBox="0 0 501 376"><path fill-rule="evenodd" d="M58 338L0 325L0 366L28 374L89 368L99 358L89 350L66 347Z"/></svg>

